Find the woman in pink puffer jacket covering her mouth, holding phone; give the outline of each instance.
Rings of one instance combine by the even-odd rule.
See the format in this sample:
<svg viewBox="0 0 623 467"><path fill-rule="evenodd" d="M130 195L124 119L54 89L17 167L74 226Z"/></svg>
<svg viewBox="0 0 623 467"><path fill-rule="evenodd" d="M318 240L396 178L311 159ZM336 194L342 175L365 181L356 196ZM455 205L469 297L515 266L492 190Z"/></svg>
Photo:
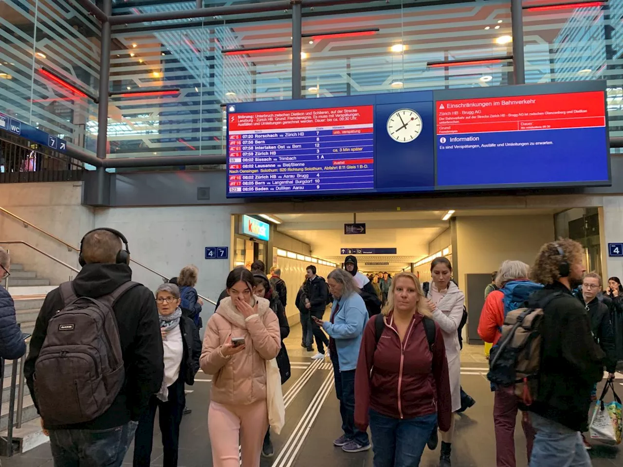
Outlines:
<svg viewBox="0 0 623 467"><path fill-rule="evenodd" d="M207 322L201 369L214 375L208 430L214 467L260 465L262 441L269 426L266 361L277 356L281 336L269 301L253 295L254 277L244 268L227 276L229 297ZM232 337L243 337L235 346ZM238 339L235 339L238 340Z"/></svg>

